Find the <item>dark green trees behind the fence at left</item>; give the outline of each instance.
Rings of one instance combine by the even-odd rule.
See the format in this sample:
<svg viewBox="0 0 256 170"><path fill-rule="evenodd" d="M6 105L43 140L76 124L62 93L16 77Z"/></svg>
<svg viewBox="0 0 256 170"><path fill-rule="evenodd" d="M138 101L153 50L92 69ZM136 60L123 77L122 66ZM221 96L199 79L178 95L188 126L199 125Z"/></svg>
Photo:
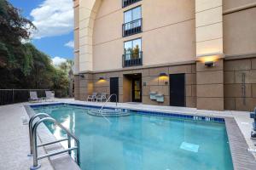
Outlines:
<svg viewBox="0 0 256 170"><path fill-rule="evenodd" d="M19 9L0 0L0 88L47 88L67 94L66 71L55 68L32 43L24 43L34 29Z"/></svg>

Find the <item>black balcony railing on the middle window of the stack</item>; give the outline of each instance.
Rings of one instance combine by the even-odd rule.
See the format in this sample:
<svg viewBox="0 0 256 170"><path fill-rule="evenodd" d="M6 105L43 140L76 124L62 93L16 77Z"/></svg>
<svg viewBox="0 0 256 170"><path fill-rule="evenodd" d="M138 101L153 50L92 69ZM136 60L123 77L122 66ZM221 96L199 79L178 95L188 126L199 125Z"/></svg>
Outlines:
<svg viewBox="0 0 256 170"><path fill-rule="evenodd" d="M132 20L123 24L123 37L131 36L143 31L143 19Z"/></svg>

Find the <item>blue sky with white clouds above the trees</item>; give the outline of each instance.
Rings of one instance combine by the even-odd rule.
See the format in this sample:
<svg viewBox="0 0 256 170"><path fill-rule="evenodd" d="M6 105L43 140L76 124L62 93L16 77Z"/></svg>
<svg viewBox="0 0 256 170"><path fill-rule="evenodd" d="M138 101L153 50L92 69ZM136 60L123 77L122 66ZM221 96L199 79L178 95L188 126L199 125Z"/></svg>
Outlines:
<svg viewBox="0 0 256 170"><path fill-rule="evenodd" d="M9 0L37 27L32 43L55 65L73 59L73 0Z"/></svg>

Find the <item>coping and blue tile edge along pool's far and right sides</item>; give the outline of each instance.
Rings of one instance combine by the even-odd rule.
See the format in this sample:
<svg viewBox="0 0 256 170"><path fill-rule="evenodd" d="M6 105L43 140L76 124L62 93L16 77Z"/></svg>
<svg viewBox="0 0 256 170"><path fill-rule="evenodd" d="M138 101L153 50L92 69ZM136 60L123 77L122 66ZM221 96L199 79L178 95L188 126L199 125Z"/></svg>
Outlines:
<svg viewBox="0 0 256 170"><path fill-rule="evenodd" d="M58 103L49 103L49 104L33 104L29 105L32 107L41 106L41 105L75 105L82 107L91 107L91 108L100 108L99 105L88 105L88 104L75 104L70 102L58 102ZM30 107L32 109L32 107ZM114 109L114 106L108 106L107 108ZM203 122L222 122L225 124L226 132L228 134L228 139L230 143L230 154L232 157L233 167L236 170L243 169L256 169L256 160L251 152L247 151L248 144L243 134L241 133L241 129L238 127L237 122L234 117L227 116L208 116L204 114L193 114L193 113L180 113L177 111L154 111L152 109L131 109L125 106L119 106L118 108L126 109L129 111L137 111L138 114L149 115L149 116L173 116L173 117L181 117L181 118L189 118L190 120L195 121L203 121ZM203 117L203 119L192 119L193 116ZM213 118L207 121L205 118L210 117ZM46 127L47 128L47 127ZM72 158L71 158L72 159Z"/></svg>

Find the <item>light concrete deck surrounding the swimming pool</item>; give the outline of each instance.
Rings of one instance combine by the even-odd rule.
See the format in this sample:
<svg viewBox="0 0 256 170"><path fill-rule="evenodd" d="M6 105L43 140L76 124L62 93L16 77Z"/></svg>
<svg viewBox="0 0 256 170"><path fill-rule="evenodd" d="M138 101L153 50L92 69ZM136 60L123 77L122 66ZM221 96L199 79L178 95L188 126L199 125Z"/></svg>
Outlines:
<svg viewBox="0 0 256 170"><path fill-rule="evenodd" d="M67 102L73 104L83 104L83 105L97 105L100 106L102 103L92 103L77 101L73 99L56 99L56 102ZM52 102L51 102L52 103ZM29 103L15 104L15 105L3 105L0 106L0 169L4 170L23 170L29 169L32 166L32 157L27 156L29 153L29 137L28 137L28 127L23 125L21 117L26 117L26 109L24 105ZM42 104L46 104L45 102ZM115 106L115 103L108 103L108 106ZM230 128L227 127L228 133L231 133L232 144L230 144L230 149L232 152L232 147L239 147L238 152L232 153L235 155L235 159L242 160L246 157L241 155L246 153L247 145L250 149L255 150L256 140L250 138L250 133L252 129L253 119L249 118L249 112L246 111L199 111L195 108L181 108L172 106L155 106L155 105L142 105L135 103L122 103L118 104L119 107L143 111L161 111L161 112L172 112L172 113L182 113L195 116L217 116L217 117L227 117L226 123L230 123ZM234 121L234 119L236 122ZM232 121L233 120L233 121ZM237 133L238 132L238 133ZM238 137L237 137L238 136ZM240 137L239 137L240 136ZM241 136L243 138L241 138ZM237 138L236 138L237 137ZM230 139L230 136L229 136ZM243 139L243 141L242 141ZM246 143L246 144L245 144ZM237 149L236 149L237 151ZM45 150L39 150L39 154L43 154ZM250 154L248 154L250 155ZM256 157L255 154L253 156ZM252 157L252 156L251 156ZM255 158L254 157L254 158ZM234 159L234 157L233 157ZM40 169L51 170L54 169L52 162L48 159L40 160L39 163L42 165ZM256 165L256 160L250 158L249 161L243 161L242 164L234 163L235 169L252 169L252 166ZM249 165L249 166L247 166Z"/></svg>

